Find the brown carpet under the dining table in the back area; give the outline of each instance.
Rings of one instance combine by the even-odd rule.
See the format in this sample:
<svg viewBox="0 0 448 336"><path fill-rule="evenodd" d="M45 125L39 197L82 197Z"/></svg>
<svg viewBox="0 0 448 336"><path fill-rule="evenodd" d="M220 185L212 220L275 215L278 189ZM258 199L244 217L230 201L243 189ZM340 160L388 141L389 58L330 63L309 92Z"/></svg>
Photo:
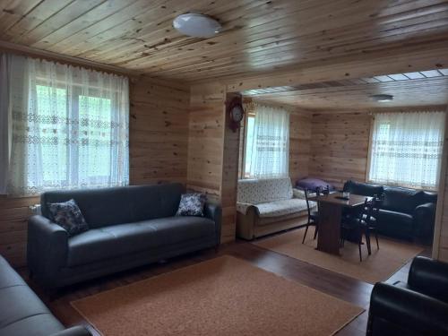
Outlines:
<svg viewBox="0 0 448 336"><path fill-rule="evenodd" d="M300 228L256 241L254 245L372 284L387 280L411 258L423 251L422 247L384 237L379 237L380 249L377 250L374 237L371 238L371 255L367 254L366 245L361 246L363 255L361 263L357 244L346 241L345 246L340 249L341 256L326 254L314 249L317 246L317 240L313 239L314 228L309 228L305 244L302 244L304 233L305 228Z"/></svg>

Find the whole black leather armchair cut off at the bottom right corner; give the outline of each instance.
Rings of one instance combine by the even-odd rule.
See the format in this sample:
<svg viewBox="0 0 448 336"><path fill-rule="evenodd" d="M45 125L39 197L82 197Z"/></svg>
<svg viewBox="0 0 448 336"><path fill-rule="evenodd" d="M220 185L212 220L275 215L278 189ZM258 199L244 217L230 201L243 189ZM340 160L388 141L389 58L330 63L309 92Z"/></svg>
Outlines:
<svg viewBox="0 0 448 336"><path fill-rule="evenodd" d="M366 335L448 335L448 264L418 256L408 283L377 283Z"/></svg>

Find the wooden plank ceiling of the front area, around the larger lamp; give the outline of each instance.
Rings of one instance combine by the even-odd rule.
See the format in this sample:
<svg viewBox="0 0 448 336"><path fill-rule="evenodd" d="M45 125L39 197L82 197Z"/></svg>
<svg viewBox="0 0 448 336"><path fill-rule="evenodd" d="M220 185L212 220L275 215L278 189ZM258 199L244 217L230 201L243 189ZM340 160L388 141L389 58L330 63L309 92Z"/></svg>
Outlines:
<svg viewBox="0 0 448 336"><path fill-rule="evenodd" d="M179 34L181 13L224 30ZM441 0L2 0L0 40L187 82L441 41Z"/></svg>

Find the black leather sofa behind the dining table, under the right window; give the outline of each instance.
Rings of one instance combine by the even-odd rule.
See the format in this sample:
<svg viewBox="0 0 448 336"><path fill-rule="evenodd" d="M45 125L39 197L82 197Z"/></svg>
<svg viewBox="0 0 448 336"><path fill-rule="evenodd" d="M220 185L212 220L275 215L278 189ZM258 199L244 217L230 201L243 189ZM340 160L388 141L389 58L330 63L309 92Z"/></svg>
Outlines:
<svg viewBox="0 0 448 336"><path fill-rule="evenodd" d="M385 236L431 244L434 234L437 194L398 186L372 185L347 181L344 191L381 196L377 215L378 232Z"/></svg>

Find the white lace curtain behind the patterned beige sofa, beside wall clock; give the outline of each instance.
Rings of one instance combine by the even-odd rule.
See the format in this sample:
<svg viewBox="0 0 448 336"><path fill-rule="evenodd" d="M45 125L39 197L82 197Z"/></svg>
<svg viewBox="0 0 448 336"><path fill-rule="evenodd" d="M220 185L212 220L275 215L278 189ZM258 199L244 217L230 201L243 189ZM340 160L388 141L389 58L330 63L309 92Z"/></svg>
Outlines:
<svg viewBox="0 0 448 336"><path fill-rule="evenodd" d="M247 164L250 177L289 177L289 112L254 103L254 136Z"/></svg>

